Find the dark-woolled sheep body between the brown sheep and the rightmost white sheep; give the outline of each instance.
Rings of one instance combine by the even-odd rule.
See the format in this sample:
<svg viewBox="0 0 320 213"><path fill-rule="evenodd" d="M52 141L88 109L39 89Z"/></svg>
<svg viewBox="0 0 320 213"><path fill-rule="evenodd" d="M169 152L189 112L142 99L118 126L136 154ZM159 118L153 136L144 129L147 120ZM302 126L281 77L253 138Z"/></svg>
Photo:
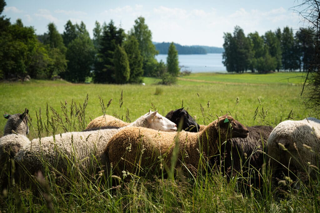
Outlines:
<svg viewBox="0 0 320 213"><path fill-rule="evenodd" d="M212 165L221 168L221 172L228 178L244 177L244 186L253 185L260 188L260 177L263 163L266 162L268 137L273 130L271 126L248 127L247 138L228 139L221 145L221 153L210 159ZM264 153L263 153L264 152ZM259 174L260 173L260 174Z"/></svg>

